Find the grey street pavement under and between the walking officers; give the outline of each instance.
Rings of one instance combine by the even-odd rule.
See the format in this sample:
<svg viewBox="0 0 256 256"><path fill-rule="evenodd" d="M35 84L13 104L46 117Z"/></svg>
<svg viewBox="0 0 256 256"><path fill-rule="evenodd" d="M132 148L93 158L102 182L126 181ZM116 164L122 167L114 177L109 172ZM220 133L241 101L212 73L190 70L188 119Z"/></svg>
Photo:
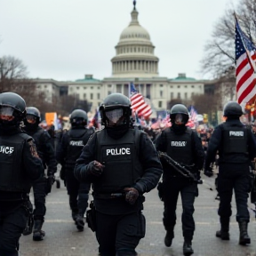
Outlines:
<svg viewBox="0 0 256 256"><path fill-rule="evenodd" d="M215 237L220 228L217 214L219 201L215 200L216 190L214 179L204 177L204 184L198 185L199 196L195 202L196 232L193 240L195 256L256 256L255 215L252 210L249 223L249 235L252 244L238 244L239 228L236 223L236 204L233 198L232 217L230 223L230 241L221 241ZM146 236L140 240L137 247L139 256L180 256L183 237L181 231L181 202L177 205L177 224L172 247L164 245L165 231L162 223L163 202L157 195L156 188L149 192L144 203L144 215L147 220ZM233 196L234 197L234 196ZM31 194L31 198L33 195ZM90 195L90 199L92 196ZM32 199L33 200L33 199ZM98 243L95 235L85 224L84 232L78 232L68 206L68 195L63 182L59 189L52 188L52 193L46 199L47 212L44 222L46 236L44 241L34 242L32 235L20 237L20 256L97 256ZM252 204L248 202L248 207ZM108 236L108 230L106 230ZM115 255L113 255L115 256Z"/></svg>

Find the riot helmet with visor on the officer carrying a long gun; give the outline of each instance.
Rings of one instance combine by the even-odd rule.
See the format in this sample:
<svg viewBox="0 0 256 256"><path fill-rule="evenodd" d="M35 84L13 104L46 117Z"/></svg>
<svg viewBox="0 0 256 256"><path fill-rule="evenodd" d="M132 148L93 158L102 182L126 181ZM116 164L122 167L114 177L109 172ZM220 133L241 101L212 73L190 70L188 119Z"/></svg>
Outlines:
<svg viewBox="0 0 256 256"><path fill-rule="evenodd" d="M188 108L183 104L176 104L171 108L170 119L172 124L185 125L188 123Z"/></svg>

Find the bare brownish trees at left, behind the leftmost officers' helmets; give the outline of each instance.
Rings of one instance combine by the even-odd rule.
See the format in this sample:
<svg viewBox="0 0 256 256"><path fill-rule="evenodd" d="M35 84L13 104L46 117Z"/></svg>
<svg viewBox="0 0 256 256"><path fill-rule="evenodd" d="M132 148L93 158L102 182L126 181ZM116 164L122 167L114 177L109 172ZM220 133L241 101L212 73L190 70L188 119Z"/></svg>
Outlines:
<svg viewBox="0 0 256 256"><path fill-rule="evenodd" d="M57 112L68 116L74 108L88 111L87 101L77 100L74 96L52 96L52 102L46 101L45 92L36 90L36 83L28 78L27 67L13 56L0 57L0 93L16 92L26 100L27 106L40 109L41 113Z"/></svg>

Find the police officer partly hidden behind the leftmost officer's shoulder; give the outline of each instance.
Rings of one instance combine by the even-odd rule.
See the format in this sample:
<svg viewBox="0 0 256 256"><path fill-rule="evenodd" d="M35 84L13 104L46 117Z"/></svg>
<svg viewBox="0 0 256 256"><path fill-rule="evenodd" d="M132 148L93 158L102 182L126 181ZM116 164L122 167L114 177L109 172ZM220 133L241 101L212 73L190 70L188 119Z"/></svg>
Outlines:
<svg viewBox="0 0 256 256"><path fill-rule="evenodd" d="M44 224L44 215L46 212L45 196L50 192L52 184L54 182L54 173L57 171L57 161L55 158L54 148L52 147L51 137L48 132L45 132L43 128L38 126L41 117L40 112L35 107L27 108L27 115L24 119L24 130L30 135L36 143L36 149L39 157L41 158L44 169L47 167L47 179L44 177L44 172L41 180L33 182L35 210L34 216L34 230L33 240L41 241L44 239L45 232L42 230ZM48 189L47 189L48 187ZM49 188L50 187L50 188ZM46 191L48 190L48 191ZM29 232L28 232L29 234ZM23 235L28 235L23 234Z"/></svg>

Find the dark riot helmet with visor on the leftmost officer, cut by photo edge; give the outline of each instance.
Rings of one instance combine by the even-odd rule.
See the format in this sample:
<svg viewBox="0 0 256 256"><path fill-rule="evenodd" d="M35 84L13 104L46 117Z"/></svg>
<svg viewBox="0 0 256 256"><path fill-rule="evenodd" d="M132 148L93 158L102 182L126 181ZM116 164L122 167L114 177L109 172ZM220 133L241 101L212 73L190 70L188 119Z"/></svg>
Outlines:
<svg viewBox="0 0 256 256"><path fill-rule="evenodd" d="M16 127L26 116L26 102L19 94L3 92L0 94L0 127Z"/></svg>

